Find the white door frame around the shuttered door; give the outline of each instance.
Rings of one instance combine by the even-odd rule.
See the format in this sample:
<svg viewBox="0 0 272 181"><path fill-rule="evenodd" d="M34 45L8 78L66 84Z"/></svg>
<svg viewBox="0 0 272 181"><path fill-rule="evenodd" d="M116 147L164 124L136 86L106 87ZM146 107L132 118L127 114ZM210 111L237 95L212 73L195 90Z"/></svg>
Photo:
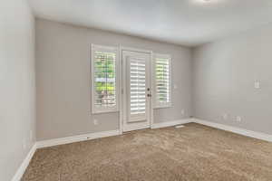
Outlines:
<svg viewBox="0 0 272 181"><path fill-rule="evenodd" d="M123 115L124 115L124 112L123 112L123 101L125 100L124 99L124 95L123 95L123 89L125 89L123 86L123 77L122 77L122 52L123 51L131 51L131 52L146 52L146 53L150 53L151 54L151 76L150 76L150 81L151 81L151 95L154 95L154 90L153 90L153 82L152 82L152 77L153 77L153 68L152 68L152 65L153 65L153 52L151 50L144 50L144 49L137 49L137 48L132 48L132 47L127 47L127 46L121 46L119 47L119 50L120 50L120 56L119 56L119 59L120 59L120 67L121 67L121 71L119 72L120 73L120 77L121 77L121 83L119 84L119 90L120 90L120 93L121 93L121 96L119 96L119 102L120 102L120 117L119 117L119 130L120 130L120 134L122 134L123 132ZM150 102L150 110L151 110L151 113L150 113L150 119L151 119L151 125L150 125L150 128L153 127L153 124L154 124L154 116L153 116L153 113L154 113L154 110L153 110L153 98L151 97L151 102Z"/></svg>

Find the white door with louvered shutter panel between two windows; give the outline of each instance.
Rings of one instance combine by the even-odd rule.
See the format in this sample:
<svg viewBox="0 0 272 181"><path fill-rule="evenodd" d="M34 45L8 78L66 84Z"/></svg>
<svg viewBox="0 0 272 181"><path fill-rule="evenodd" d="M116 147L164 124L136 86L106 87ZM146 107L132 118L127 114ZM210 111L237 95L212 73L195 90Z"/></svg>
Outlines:
<svg viewBox="0 0 272 181"><path fill-rule="evenodd" d="M151 53L122 51L123 131L151 127Z"/></svg>

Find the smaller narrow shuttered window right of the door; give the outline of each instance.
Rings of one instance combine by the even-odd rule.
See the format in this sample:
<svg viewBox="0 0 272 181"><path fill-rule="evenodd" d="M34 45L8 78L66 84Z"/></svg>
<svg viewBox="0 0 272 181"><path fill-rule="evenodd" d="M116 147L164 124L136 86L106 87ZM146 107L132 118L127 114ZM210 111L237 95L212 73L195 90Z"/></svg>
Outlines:
<svg viewBox="0 0 272 181"><path fill-rule="evenodd" d="M171 58L167 54L155 53L154 57L154 101L156 108L171 106Z"/></svg>

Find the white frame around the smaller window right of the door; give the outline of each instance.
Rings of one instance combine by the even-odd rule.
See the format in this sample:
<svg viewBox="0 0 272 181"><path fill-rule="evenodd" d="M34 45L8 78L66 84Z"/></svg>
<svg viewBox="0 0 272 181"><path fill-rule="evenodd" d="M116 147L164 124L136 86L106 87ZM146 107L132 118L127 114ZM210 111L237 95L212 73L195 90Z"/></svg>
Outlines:
<svg viewBox="0 0 272 181"><path fill-rule="evenodd" d="M170 71L170 102L168 103L160 103L157 101L157 80L156 80L156 59L157 58L165 58L165 59L169 59L169 71ZM153 53L153 61L152 61L152 82L153 82L153 105L154 105L154 109L163 109L163 108L170 108L172 107L172 58L170 54L162 54L162 53Z"/></svg>

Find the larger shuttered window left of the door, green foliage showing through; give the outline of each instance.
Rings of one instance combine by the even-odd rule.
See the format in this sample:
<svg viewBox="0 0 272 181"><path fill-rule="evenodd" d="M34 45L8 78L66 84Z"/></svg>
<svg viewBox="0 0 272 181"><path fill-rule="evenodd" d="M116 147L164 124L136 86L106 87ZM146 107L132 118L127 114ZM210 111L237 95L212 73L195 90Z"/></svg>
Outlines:
<svg viewBox="0 0 272 181"><path fill-rule="evenodd" d="M92 113L118 110L118 48L92 44Z"/></svg>

